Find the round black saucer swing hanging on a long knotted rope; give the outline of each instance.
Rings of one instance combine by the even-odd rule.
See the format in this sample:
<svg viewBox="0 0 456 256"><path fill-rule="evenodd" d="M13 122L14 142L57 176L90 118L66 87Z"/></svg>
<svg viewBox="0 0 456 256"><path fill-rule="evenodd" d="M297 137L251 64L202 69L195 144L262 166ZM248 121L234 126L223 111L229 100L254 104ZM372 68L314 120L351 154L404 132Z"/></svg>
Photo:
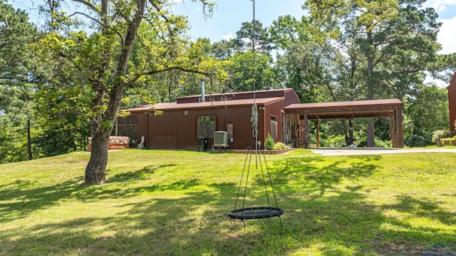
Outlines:
<svg viewBox="0 0 456 256"><path fill-rule="evenodd" d="M252 0L252 1L253 1L253 17L254 17L253 31L255 34L255 0ZM252 48L253 48L252 50L253 50L254 77L255 77L255 38L254 38L254 36L252 36ZM268 185L266 185L266 180L264 177L264 170L263 170L263 163L261 163L261 155L259 154L259 142L261 141L261 138L259 137L259 134L258 134L258 107L257 107L257 103L255 103L255 79L254 79L254 104L252 106L252 118L250 119L250 121L252 122L252 147L249 150L247 150L246 158L244 161L244 168L242 170L242 175L241 175L241 181L239 182L239 188L237 190L237 197L236 197L236 201L234 203L234 210L232 210L231 212L228 213L228 217L234 219L234 221L242 220L242 222L244 223L244 229L245 229L244 220L279 217L280 227L283 228L280 215L284 214L285 211L283 209L279 208L279 205L277 204L276 194L274 193L274 188L272 186L271 175L269 173L268 165L266 163L266 155L264 154L264 150L263 150L262 155L263 155L263 159L264 159L264 167L266 169L267 177L269 178L270 190L272 191L272 195L274 197L275 207L271 206L271 203L269 202ZM252 165L252 155L255 155L255 159L254 159L255 169L258 170L258 167L259 167L259 170L261 170L264 191L266 193L267 206L245 207L245 199L247 196L247 185L249 183L250 167ZM244 180L244 175L245 175L245 180ZM239 201L239 195L241 193L241 188L242 188L243 184L245 184L245 185L244 185L244 196L242 199L242 208L237 208L237 204Z"/></svg>

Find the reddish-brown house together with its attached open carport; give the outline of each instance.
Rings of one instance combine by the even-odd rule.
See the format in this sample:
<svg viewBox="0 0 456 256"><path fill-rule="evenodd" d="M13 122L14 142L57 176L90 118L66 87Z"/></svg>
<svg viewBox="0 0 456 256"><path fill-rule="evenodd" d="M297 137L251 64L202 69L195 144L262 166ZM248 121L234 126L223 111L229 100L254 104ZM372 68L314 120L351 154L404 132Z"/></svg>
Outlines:
<svg viewBox="0 0 456 256"><path fill-rule="evenodd" d="M128 136L130 148L136 148L143 139L142 145L150 149L195 150L198 138L207 140L209 148L219 145L214 133L223 131L227 135L223 145L246 149L252 147L250 119L254 103L258 107L261 145L270 134L275 142L308 148L312 119L317 123L318 147L320 119L389 117L393 147L403 147L402 102L398 99L301 104L292 88L187 96L177 98L175 103L126 109L130 116L118 118L115 134Z"/></svg>

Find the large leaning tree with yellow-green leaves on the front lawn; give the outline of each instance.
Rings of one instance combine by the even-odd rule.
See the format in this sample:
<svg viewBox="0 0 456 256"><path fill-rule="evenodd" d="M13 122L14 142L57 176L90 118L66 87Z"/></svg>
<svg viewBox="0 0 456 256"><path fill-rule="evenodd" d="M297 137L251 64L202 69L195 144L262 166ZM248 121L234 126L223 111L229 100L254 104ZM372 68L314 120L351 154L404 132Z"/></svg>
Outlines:
<svg viewBox="0 0 456 256"><path fill-rule="evenodd" d="M205 11L211 11L213 4L199 2ZM72 100L80 102L77 111L88 116L92 134L85 183L103 183L108 138L125 90L138 86L145 76L166 71L214 76L217 66L211 58L198 54L197 45L189 46L182 38L186 19L172 15L168 1L74 0L70 3L82 8L68 15L61 11L61 1L48 2L45 9L50 15L51 33L36 48L43 58L51 56L56 60L58 76L71 74L73 86L61 89L75 91ZM84 30L87 26L92 28L90 34ZM142 26L149 26L152 31L148 28L143 31ZM155 36L151 39L145 31ZM142 48L133 60L137 41ZM57 87L62 82L58 76L54 83Z"/></svg>

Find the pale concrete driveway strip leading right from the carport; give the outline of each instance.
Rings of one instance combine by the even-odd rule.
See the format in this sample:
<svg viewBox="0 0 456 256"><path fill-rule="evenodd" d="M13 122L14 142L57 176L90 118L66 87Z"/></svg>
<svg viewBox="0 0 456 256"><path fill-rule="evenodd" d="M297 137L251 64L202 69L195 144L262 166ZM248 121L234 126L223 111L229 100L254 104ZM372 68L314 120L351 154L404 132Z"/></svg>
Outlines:
<svg viewBox="0 0 456 256"><path fill-rule="evenodd" d="M312 152L321 155L378 155L400 153L456 153L456 148L314 148Z"/></svg>

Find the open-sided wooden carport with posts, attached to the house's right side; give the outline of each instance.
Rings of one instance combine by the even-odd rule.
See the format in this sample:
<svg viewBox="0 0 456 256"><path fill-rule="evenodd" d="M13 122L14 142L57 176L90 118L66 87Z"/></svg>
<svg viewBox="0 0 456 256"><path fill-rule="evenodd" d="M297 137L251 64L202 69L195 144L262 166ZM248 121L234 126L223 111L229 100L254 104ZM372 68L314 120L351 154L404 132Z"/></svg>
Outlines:
<svg viewBox="0 0 456 256"><path fill-rule="evenodd" d="M403 148L402 102L397 98L370 101L338 101L291 104L284 108L286 115L304 120L304 148L309 148L309 120L316 120L316 146L319 147L320 119L328 118L391 118L393 148Z"/></svg>

